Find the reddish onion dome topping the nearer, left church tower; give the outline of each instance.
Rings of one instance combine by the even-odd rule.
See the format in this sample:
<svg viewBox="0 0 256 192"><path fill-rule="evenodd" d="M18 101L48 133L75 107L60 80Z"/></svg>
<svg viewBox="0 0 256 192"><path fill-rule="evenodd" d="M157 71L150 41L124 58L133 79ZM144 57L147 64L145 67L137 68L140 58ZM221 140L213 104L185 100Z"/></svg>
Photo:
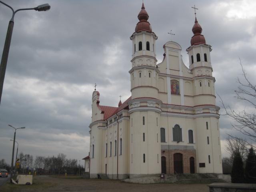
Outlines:
<svg viewBox="0 0 256 192"><path fill-rule="evenodd" d="M138 19L140 20L136 27L135 27L135 32L142 32L142 31L147 31L147 32L152 32L152 28L150 26L150 23L148 22L148 13L145 10L144 3L142 3L142 7L140 10L140 13L138 14Z"/></svg>

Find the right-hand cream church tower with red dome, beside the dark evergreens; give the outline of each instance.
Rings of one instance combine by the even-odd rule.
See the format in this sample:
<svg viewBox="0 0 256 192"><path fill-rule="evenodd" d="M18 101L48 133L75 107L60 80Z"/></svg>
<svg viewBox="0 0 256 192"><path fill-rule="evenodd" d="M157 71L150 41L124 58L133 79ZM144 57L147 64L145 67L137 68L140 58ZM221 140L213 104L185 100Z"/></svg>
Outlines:
<svg viewBox="0 0 256 192"><path fill-rule="evenodd" d="M195 118L198 172L222 173L219 115L215 107L215 78L212 76L210 58L212 48L206 44L201 34L202 27L196 17L192 32L194 36L190 41L191 46L186 51L189 55L189 69L194 79L194 105L197 106L195 113L200 116Z"/></svg>

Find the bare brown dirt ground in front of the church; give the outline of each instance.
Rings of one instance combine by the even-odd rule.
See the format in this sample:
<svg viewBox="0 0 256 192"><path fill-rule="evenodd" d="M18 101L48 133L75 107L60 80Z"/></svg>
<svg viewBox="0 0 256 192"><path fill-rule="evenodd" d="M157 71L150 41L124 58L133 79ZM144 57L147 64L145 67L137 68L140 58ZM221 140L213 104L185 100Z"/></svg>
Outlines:
<svg viewBox="0 0 256 192"><path fill-rule="evenodd" d="M208 192L207 184L133 184L118 180L34 176L32 185L6 183L0 192Z"/></svg>

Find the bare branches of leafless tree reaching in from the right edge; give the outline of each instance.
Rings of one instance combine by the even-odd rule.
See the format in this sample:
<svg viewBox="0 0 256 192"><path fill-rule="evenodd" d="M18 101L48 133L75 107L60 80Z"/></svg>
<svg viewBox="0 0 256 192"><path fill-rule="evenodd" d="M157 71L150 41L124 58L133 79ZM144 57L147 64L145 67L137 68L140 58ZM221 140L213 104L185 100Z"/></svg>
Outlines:
<svg viewBox="0 0 256 192"><path fill-rule="evenodd" d="M252 84L246 76L241 60L240 65L242 68L243 80L237 78L238 88L235 90L235 93L236 98L248 106L247 109L244 108L242 111L232 110L230 106L225 106L223 100L220 99L224 108L224 115L229 116L235 122L232 124L233 128L247 136L249 141L244 141L247 145L256 148L256 85ZM233 136L233 138L236 137Z"/></svg>

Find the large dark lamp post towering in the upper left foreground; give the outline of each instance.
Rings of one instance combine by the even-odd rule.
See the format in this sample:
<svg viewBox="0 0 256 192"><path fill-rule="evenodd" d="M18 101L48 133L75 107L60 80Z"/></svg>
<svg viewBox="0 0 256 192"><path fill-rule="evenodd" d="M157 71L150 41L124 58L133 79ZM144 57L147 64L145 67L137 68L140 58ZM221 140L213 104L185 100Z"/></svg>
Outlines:
<svg viewBox="0 0 256 192"><path fill-rule="evenodd" d="M4 86L4 76L5 76L6 65L7 65L10 44L11 44L11 39L12 39L12 30L13 30L13 26L14 26L14 15L16 14L16 12L22 11L22 10L47 11L51 8L51 6L47 3L47 4L39 5L34 8L17 9L16 11L14 11L14 9L10 5L8 5L2 1L0 1L0 3L4 4L5 6L8 6L12 10L12 18L8 25L6 39L5 39L5 43L4 43L4 50L3 50L3 54L2 54L2 60L1 60L1 64L0 64L0 104L1 104L2 92L3 92L3 86Z"/></svg>

